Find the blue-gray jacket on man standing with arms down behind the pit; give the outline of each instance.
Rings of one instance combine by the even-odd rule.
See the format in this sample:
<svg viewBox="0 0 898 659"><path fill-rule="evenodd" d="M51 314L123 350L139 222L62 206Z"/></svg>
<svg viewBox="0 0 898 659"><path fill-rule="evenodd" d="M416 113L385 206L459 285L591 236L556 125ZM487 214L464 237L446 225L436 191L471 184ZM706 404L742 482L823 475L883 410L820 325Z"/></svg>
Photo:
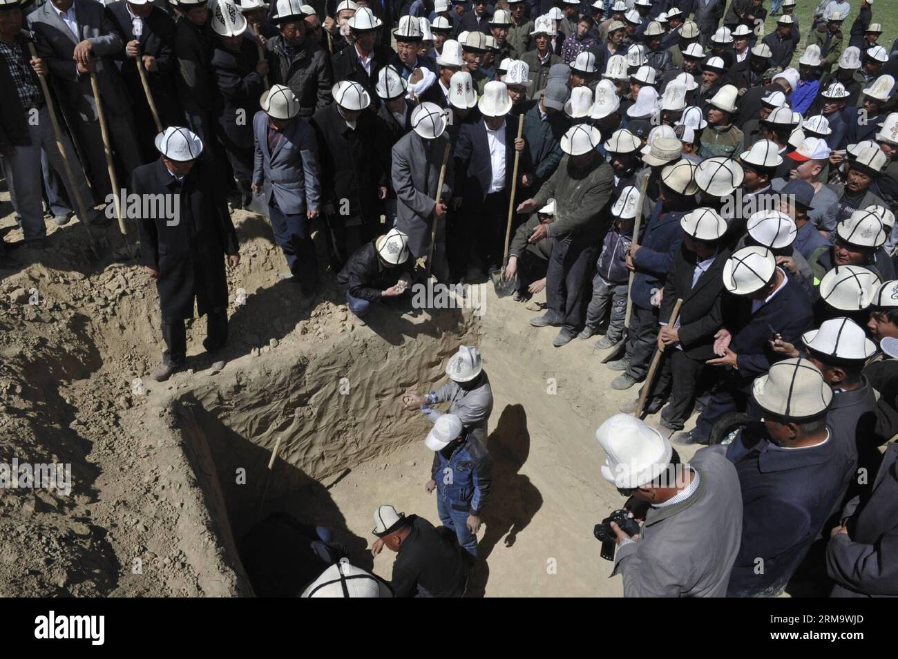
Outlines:
<svg viewBox="0 0 898 659"><path fill-rule="evenodd" d="M269 116L263 111L252 118L256 154L252 182L264 185L268 206L274 195L277 207L286 215L318 210L321 203L321 168L318 140L308 122L296 117L284 130L284 138L269 152Z"/></svg>

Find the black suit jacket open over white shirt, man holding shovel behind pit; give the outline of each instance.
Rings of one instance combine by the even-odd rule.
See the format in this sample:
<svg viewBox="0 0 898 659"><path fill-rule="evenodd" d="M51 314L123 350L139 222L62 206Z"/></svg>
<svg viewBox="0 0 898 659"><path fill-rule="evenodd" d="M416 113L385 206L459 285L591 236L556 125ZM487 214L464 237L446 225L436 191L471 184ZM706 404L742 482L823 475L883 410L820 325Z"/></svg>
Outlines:
<svg viewBox="0 0 898 659"><path fill-rule="evenodd" d="M512 115L506 116L506 186L507 192L511 192L512 170L515 168L515 137L517 136L517 123L519 118ZM455 171L465 172L464 189L462 197L464 203L480 203L487 198L489 184L492 181L492 160L489 157L489 139L487 137L487 125L481 119L475 124L462 124L459 131L458 142L455 144ZM521 162L518 165L518 176L526 171L531 171L530 157L527 149L521 153Z"/></svg>

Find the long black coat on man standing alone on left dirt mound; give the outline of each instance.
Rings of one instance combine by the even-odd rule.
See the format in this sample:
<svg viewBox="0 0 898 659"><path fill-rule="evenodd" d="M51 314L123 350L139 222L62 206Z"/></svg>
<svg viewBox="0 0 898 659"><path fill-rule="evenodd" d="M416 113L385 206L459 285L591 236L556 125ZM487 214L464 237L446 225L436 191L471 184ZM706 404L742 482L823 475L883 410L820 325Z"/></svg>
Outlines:
<svg viewBox="0 0 898 659"><path fill-rule="evenodd" d="M178 204L178 215L151 211L136 218L140 262L159 272L163 320L191 318L194 297L200 316L227 307L225 254L237 253L237 233L213 176L197 162L178 185L162 158L132 174L134 194L159 195L172 210Z"/></svg>

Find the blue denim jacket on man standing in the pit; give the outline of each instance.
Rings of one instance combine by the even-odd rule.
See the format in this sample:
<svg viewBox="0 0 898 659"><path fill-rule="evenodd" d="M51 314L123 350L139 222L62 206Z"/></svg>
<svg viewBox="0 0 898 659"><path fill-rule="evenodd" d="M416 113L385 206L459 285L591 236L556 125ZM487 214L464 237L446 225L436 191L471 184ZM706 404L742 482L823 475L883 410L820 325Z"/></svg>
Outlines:
<svg viewBox="0 0 898 659"><path fill-rule="evenodd" d="M437 496L445 496L453 510L480 514L489 498L492 467L486 446L465 430L462 444L434 452L430 475L436 480Z"/></svg>

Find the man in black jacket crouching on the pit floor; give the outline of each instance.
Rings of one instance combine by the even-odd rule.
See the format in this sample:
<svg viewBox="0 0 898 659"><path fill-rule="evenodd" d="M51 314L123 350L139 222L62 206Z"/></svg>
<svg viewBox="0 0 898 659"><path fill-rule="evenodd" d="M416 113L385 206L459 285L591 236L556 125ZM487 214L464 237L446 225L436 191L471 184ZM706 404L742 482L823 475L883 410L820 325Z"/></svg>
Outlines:
<svg viewBox="0 0 898 659"><path fill-rule="evenodd" d="M396 552L390 588L394 597L462 597L468 584L467 553L445 533L417 514L377 506L371 547L377 556L384 547Z"/></svg>

